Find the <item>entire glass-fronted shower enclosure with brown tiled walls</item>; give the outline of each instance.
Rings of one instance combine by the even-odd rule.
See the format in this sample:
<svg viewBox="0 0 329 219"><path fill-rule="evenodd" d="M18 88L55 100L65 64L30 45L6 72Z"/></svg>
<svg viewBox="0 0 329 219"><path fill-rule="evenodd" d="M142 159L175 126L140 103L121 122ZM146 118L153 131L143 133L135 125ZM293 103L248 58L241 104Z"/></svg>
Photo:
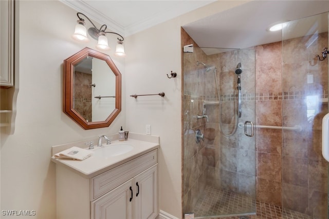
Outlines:
<svg viewBox="0 0 329 219"><path fill-rule="evenodd" d="M328 13L286 24L280 42L183 54L184 214L327 218Z"/></svg>

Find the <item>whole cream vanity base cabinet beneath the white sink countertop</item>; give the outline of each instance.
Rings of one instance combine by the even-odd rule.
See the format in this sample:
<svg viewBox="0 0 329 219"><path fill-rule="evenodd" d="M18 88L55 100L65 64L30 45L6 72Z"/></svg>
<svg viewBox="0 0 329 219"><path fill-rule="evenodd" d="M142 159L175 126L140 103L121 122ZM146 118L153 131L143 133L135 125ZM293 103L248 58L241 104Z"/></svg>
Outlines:
<svg viewBox="0 0 329 219"><path fill-rule="evenodd" d="M157 168L157 149L92 178L57 165L57 217L156 218Z"/></svg>

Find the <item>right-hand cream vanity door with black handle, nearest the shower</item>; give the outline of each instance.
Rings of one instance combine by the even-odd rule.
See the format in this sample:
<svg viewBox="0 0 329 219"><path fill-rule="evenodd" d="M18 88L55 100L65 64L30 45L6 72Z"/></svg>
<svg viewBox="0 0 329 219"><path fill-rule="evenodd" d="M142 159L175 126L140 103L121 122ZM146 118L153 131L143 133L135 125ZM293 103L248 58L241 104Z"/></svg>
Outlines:
<svg viewBox="0 0 329 219"><path fill-rule="evenodd" d="M158 215L157 165L134 178L135 219L151 219Z"/></svg>

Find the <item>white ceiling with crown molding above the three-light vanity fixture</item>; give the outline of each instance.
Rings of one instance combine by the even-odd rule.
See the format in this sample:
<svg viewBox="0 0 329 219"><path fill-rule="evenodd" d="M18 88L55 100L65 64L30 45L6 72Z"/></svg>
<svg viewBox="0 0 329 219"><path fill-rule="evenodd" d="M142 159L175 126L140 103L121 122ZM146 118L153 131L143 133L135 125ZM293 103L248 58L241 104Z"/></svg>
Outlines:
<svg viewBox="0 0 329 219"><path fill-rule="evenodd" d="M216 0L60 0L108 29L128 36ZM77 19L78 20L78 19Z"/></svg>

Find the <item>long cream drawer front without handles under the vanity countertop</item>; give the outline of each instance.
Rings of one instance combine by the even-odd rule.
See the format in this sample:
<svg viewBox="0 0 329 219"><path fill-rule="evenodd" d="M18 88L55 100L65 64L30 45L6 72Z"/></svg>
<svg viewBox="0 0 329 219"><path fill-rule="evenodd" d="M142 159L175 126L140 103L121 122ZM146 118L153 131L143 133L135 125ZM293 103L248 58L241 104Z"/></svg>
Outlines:
<svg viewBox="0 0 329 219"><path fill-rule="evenodd" d="M157 149L92 178L90 199L94 200L158 162Z"/></svg>

